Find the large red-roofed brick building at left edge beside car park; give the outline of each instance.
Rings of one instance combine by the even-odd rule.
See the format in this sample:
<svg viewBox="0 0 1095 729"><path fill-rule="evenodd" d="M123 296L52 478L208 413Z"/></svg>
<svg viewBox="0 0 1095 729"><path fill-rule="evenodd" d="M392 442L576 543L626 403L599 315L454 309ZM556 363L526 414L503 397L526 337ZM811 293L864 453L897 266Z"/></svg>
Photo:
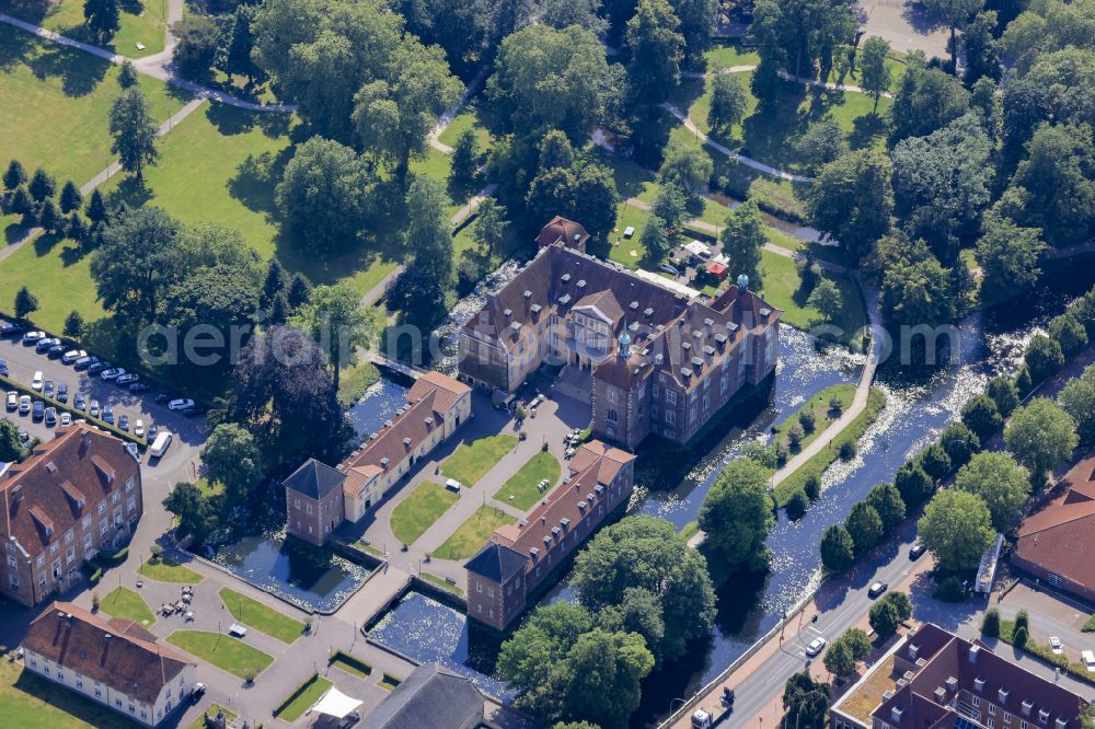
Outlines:
<svg viewBox="0 0 1095 729"><path fill-rule="evenodd" d="M126 542L143 511L140 466L97 428L58 430L0 474L0 595L34 606Z"/></svg>

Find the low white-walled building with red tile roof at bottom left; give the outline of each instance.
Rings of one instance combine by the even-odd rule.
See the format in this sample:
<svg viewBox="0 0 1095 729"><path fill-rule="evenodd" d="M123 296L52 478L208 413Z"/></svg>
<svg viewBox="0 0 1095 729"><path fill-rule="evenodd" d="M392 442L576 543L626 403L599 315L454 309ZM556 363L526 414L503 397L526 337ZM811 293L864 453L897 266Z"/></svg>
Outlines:
<svg viewBox="0 0 1095 729"><path fill-rule="evenodd" d="M131 621L54 602L23 636L23 666L47 681L154 727L194 691L197 664Z"/></svg>

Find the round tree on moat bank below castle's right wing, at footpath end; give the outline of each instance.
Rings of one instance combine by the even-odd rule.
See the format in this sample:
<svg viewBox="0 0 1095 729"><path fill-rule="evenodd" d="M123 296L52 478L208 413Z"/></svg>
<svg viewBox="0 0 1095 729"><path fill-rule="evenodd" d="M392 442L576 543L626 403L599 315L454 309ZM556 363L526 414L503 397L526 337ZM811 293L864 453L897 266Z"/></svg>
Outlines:
<svg viewBox="0 0 1095 729"><path fill-rule="evenodd" d="M775 519L764 466L748 458L730 461L707 491L699 522L731 570L766 569L771 555L764 541Z"/></svg>

